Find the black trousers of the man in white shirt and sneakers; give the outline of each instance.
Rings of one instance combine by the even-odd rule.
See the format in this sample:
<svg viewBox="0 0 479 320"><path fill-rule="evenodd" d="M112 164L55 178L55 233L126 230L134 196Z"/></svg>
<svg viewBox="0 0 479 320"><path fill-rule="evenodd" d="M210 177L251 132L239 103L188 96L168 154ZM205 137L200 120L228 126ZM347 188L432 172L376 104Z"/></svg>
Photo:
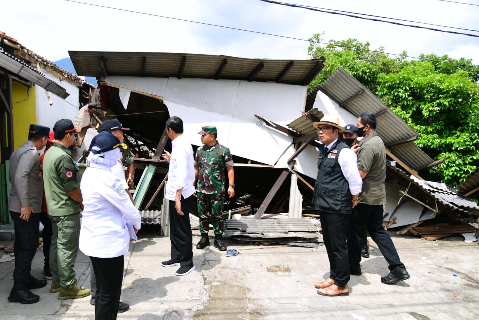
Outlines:
<svg viewBox="0 0 479 320"><path fill-rule="evenodd" d="M182 266L193 266L193 235L190 224L191 198L181 197L183 215L176 212L175 201L170 200L171 259L179 260Z"/></svg>

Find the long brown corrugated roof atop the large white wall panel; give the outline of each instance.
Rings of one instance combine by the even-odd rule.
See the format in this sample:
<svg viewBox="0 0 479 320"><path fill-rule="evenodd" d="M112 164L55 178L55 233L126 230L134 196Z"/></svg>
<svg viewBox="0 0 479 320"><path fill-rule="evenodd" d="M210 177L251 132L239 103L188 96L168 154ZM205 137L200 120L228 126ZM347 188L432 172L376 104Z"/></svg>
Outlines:
<svg viewBox="0 0 479 320"><path fill-rule="evenodd" d="M312 79L307 77L309 72L313 71L318 63L323 62L319 60L246 59L167 52L68 51L68 53L78 74L92 77L117 75L215 79L218 69L226 59L226 65L219 79L245 80L260 63L263 63L264 68L254 76L252 81L265 82L277 81L280 73L293 62L293 66L285 73L280 82L301 85L306 85L314 79L314 77ZM182 65L183 70L180 72Z"/></svg>

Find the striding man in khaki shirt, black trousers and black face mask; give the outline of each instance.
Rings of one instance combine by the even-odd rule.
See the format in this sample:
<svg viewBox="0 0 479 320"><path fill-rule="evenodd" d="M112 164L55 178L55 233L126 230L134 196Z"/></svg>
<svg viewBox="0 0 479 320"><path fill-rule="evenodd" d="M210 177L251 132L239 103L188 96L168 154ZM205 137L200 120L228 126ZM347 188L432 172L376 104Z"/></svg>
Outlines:
<svg viewBox="0 0 479 320"><path fill-rule="evenodd" d="M384 284L393 284L409 279L406 267L400 261L398 252L384 230L383 205L386 203L386 148L382 139L376 133L376 116L370 112L359 115L357 120L357 135L364 137L360 145L353 148L357 152L359 175L363 178L363 189L358 197L358 205L353 209L354 228L350 228L348 241L349 263L351 274L361 274L361 245L365 226L376 242L379 250L389 263L389 274L381 277Z"/></svg>

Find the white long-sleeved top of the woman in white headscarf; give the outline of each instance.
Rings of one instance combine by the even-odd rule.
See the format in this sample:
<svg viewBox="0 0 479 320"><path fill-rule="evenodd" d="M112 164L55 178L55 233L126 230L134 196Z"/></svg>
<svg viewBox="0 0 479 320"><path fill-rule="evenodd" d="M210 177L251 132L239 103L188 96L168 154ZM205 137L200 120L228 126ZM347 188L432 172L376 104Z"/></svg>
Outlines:
<svg viewBox="0 0 479 320"><path fill-rule="evenodd" d="M87 167L81 178L83 219L80 250L90 257L115 258L128 252L130 236L125 219L137 229L141 216L112 172Z"/></svg>

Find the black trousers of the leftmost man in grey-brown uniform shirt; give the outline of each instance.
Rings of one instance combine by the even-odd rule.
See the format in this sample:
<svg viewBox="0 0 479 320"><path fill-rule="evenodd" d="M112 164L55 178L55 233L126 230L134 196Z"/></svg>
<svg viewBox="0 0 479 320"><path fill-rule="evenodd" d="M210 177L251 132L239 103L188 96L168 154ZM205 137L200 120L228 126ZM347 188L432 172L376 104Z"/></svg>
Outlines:
<svg viewBox="0 0 479 320"><path fill-rule="evenodd" d="M38 230L40 219L38 213L31 213L30 219L20 219L19 212L10 212L15 228L15 270L13 279L25 279L32 270L32 260L38 248Z"/></svg>

